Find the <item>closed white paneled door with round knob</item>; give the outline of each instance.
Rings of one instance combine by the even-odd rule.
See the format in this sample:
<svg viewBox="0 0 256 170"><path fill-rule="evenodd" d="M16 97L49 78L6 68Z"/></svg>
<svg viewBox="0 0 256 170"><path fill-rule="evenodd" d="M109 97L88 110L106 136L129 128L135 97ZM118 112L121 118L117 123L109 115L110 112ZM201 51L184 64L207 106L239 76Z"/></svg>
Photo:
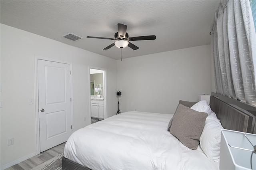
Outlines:
<svg viewBox="0 0 256 170"><path fill-rule="evenodd" d="M38 59L40 152L72 133L70 65Z"/></svg>

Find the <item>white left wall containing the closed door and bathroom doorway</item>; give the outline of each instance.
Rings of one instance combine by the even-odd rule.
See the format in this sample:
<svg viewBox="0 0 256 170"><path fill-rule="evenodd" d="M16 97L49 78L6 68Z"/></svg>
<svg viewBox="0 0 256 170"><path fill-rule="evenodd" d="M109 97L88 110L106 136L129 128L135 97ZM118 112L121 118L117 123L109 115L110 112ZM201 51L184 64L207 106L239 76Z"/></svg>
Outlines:
<svg viewBox="0 0 256 170"><path fill-rule="evenodd" d="M1 167L36 152L35 105L28 105L28 99L35 97L35 55L72 63L74 130L89 125L89 65L106 69L108 116L116 114L116 60L10 26L0 26ZM12 137L14 145L8 146L8 138Z"/></svg>

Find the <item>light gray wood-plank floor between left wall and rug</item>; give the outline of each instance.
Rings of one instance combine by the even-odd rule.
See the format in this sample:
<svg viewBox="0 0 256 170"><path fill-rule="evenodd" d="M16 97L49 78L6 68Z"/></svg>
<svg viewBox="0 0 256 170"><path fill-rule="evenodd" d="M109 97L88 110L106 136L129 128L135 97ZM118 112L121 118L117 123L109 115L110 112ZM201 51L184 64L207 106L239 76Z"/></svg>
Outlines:
<svg viewBox="0 0 256 170"><path fill-rule="evenodd" d="M32 158L29 158L29 159L24 160L23 162L20 162L14 166L11 166L10 168L7 168L6 170L31 170L32 168L63 153L65 144L66 144L66 142L59 144L58 146L50 148L36 156L33 156Z"/></svg>

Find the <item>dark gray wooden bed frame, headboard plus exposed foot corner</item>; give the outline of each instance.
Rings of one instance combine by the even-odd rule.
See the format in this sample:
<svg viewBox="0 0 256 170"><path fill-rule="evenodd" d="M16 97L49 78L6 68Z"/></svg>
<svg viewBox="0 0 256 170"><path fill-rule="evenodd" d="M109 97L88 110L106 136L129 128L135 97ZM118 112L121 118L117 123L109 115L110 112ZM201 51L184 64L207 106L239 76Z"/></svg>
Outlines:
<svg viewBox="0 0 256 170"><path fill-rule="evenodd" d="M210 97L210 107L225 129L256 134L256 107L217 93ZM63 170L90 170L62 157Z"/></svg>

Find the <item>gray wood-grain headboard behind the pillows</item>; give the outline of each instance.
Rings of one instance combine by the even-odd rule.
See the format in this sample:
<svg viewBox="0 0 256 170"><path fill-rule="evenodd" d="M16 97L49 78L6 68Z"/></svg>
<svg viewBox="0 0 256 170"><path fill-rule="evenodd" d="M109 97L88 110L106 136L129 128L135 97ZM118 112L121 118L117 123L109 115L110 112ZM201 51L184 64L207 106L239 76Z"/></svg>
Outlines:
<svg viewBox="0 0 256 170"><path fill-rule="evenodd" d="M212 93L210 107L216 113L222 126L225 129L256 134L256 116L252 112L220 98L222 97ZM256 111L256 107L252 109Z"/></svg>

